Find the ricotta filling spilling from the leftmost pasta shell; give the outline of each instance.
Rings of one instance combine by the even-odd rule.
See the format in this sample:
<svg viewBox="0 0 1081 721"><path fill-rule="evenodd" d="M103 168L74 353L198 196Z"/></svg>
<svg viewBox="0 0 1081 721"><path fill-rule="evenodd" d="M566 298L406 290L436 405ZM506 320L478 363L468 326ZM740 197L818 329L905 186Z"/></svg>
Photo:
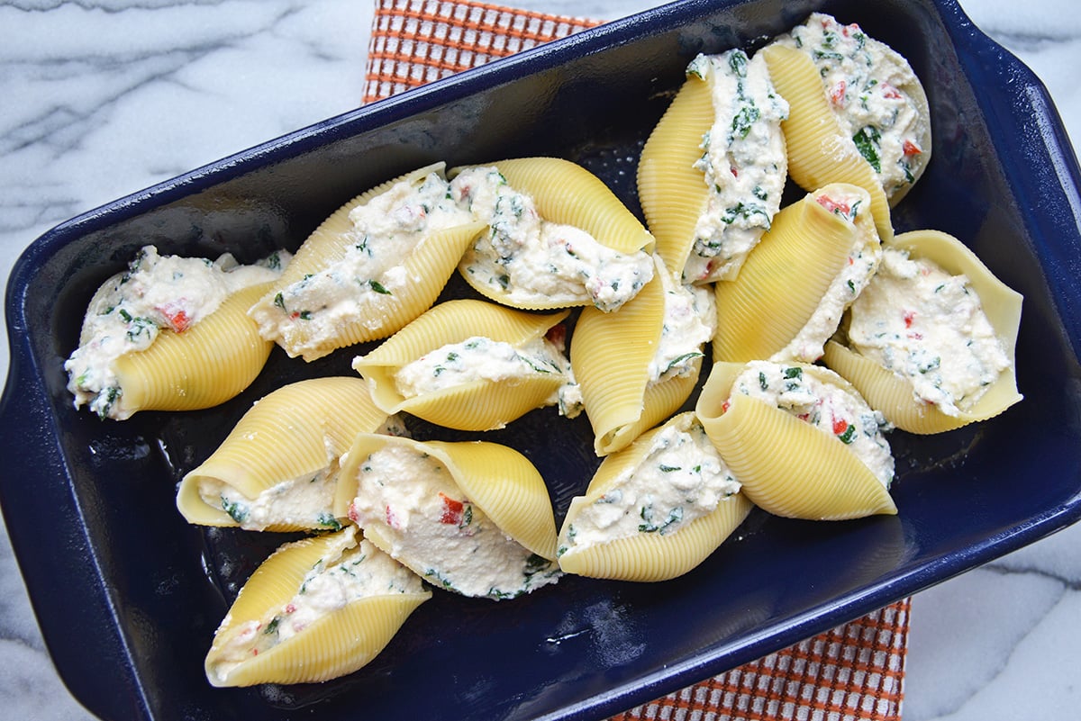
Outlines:
<svg viewBox="0 0 1081 721"><path fill-rule="evenodd" d="M79 348L65 362L75 407L99 418L131 416L119 403L123 389L112 363L150 348L163 329L183 334L218 309L228 296L281 273L291 256L278 251L254 266L230 255L217 260L162 256L142 248L128 270L106 281L86 308Z"/></svg>

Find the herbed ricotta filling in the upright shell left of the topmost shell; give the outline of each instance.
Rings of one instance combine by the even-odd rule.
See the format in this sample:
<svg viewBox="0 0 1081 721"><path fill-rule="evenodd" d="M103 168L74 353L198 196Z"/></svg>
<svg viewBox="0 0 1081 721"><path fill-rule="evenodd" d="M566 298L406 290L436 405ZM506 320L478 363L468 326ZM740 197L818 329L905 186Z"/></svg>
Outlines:
<svg viewBox="0 0 1081 721"><path fill-rule="evenodd" d="M764 58L748 59L742 50L698 55L688 74L709 83L716 117L694 165L710 192L683 281L732 280L780 207L788 173L780 121L788 103L774 90Z"/></svg>

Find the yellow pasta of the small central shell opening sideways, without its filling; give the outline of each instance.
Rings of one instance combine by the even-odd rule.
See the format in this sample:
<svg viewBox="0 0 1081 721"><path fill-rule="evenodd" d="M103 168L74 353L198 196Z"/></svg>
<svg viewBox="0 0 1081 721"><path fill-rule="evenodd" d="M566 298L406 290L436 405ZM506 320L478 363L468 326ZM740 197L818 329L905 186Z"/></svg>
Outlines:
<svg viewBox="0 0 1081 721"><path fill-rule="evenodd" d="M444 345L473 337L515 348L544 336L568 311L536 315L481 300L440 303L408 324L352 367L369 383L376 405L388 413L409 412L464 431L499 428L538 408L566 382L561 373L532 373L505 380L475 380L432 393L405 397L395 376L401 368Z"/></svg>

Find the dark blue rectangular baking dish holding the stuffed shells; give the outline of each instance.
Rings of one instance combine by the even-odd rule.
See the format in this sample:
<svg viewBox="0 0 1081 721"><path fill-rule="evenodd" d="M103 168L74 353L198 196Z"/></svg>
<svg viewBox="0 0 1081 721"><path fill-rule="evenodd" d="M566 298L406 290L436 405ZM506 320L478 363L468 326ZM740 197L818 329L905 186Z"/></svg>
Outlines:
<svg viewBox="0 0 1081 721"><path fill-rule="evenodd" d="M940 436L893 433L896 517L813 523L756 512L675 581L566 577L501 603L436 591L351 676L211 688L202 661L213 631L284 536L190 527L175 509L176 484L254 399L299 378L351 373L353 353L304 364L276 349L224 406L103 422L72 409L63 370L94 288L147 243L242 261L295 249L360 190L439 160L569 158L639 212L637 154L688 62L753 50L812 10L859 23L923 80L934 157L894 222L958 236L1024 294L1025 400ZM689 0L333 118L65 222L12 273L0 406L0 503L53 661L71 693L110 721L600 719L1059 530L1081 515L1078 177L1044 89L953 0ZM584 421L535 411L493 437L536 463L561 519L597 464L588 433Z"/></svg>

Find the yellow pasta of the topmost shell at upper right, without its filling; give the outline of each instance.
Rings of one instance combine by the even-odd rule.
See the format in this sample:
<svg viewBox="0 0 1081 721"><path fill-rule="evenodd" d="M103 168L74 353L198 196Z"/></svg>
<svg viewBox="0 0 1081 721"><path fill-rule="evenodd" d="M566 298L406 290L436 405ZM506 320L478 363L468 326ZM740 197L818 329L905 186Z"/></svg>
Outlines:
<svg viewBox="0 0 1081 721"><path fill-rule="evenodd" d="M814 62L803 52L772 43L761 50L777 92L788 100L782 123L788 144L788 174L806 191L830 182L851 182L871 196L879 236L893 237L890 203L875 168L841 130ZM930 145L929 145L930 147Z"/></svg>

